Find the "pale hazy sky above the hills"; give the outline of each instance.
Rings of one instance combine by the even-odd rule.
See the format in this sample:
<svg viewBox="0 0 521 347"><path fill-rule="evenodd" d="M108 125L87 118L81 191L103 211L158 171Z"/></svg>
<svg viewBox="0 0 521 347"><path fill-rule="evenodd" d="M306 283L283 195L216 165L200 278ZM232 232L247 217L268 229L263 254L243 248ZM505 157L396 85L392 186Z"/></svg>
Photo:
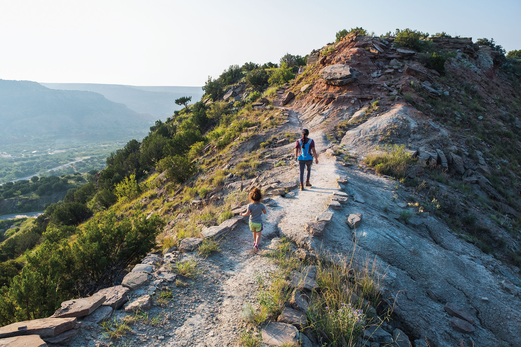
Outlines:
<svg viewBox="0 0 521 347"><path fill-rule="evenodd" d="M521 49L521 1L0 0L0 79L203 85L232 64L308 54L361 26Z"/></svg>

